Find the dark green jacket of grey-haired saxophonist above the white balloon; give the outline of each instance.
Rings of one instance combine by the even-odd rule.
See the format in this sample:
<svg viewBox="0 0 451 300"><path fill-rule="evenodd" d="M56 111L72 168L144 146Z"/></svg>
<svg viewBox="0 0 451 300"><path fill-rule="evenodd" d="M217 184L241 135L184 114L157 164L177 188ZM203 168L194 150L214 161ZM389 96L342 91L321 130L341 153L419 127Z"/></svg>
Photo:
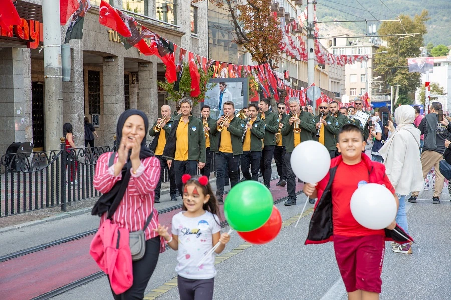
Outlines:
<svg viewBox="0 0 451 300"><path fill-rule="evenodd" d="M294 149L294 132L293 125L290 125L290 117L284 119L284 126L282 127L282 136L285 136L285 151L286 153L293 152ZM301 128L301 142L306 140L312 140L313 134L316 132L315 121L313 115L307 111L301 111L298 118L301 120L299 128Z"/></svg>

